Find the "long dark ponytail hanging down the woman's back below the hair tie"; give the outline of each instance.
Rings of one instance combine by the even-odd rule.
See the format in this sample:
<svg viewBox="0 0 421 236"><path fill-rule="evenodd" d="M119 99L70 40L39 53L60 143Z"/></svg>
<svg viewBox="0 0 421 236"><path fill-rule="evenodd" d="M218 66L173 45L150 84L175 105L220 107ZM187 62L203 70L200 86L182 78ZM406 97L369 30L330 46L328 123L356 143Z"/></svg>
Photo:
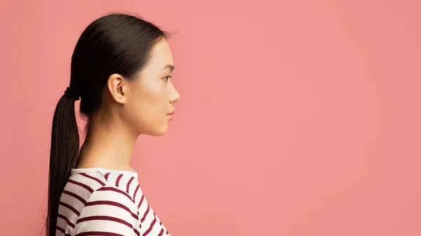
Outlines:
<svg viewBox="0 0 421 236"><path fill-rule="evenodd" d="M79 155L74 99L62 95L55 108L48 174L47 236L55 236L60 195Z"/></svg>

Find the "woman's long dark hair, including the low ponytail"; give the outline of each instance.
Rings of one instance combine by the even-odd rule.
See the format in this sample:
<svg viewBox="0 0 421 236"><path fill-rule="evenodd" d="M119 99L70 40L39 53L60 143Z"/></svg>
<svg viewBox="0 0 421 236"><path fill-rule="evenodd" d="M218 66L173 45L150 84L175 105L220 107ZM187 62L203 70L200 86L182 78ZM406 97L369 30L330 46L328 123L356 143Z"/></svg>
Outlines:
<svg viewBox="0 0 421 236"><path fill-rule="evenodd" d="M81 34L72 55L69 90L80 96L80 112L89 118L101 104L109 76L133 79L152 56L152 47L164 32L139 16L113 13L93 21ZM74 95L74 94L73 94ZM51 132L46 235L54 236L62 190L79 156L75 99L62 95L55 108ZM88 126L89 123L87 123Z"/></svg>

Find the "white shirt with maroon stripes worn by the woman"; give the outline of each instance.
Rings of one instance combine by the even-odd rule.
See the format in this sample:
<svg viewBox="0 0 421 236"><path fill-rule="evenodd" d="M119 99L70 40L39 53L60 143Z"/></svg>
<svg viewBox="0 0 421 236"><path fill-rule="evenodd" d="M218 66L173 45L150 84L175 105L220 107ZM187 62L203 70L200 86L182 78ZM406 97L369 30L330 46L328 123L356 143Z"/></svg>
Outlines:
<svg viewBox="0 0 421 236"><path fill-rule="evenodd" d="M56 235L171 236L145 199L137 172L102 168L72 169Z"/></svg>

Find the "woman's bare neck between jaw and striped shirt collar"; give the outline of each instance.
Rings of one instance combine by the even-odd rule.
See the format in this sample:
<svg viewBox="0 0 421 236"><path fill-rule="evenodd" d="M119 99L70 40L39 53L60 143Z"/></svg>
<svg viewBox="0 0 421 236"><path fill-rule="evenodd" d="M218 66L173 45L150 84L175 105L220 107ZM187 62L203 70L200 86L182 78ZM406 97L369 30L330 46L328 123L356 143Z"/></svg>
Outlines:
<svg viewBox="0 0 421 236"><path fill-rule="evenodd" d="M88 125L75 168L105 168L131 171L131 156L137 135L117 120L94 118Z"/></svg>

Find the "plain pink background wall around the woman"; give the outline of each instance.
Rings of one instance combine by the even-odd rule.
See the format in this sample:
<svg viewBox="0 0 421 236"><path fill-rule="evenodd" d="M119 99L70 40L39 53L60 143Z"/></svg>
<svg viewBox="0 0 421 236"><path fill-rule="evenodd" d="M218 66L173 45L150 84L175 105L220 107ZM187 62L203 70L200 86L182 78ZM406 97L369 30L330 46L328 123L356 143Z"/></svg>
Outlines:
<svg viewBox="0 0 421 236"><path fill-rule="evenodd" d="M37 235L82 30L178 32L181 95L133 168L173 236L421 235L421 1L0 1L1 235Z"/></svg>

